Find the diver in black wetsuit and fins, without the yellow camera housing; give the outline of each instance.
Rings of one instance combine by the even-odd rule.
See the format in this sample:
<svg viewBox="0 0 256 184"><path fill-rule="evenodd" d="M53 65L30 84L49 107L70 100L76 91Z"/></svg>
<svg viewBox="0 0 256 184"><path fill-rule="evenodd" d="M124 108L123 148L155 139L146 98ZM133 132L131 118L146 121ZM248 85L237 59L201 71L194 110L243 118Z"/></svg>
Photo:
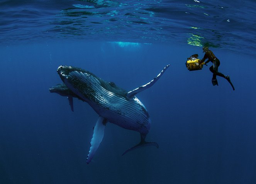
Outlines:
<svg viewBox="0 0 256 184"><path fill-rule="evenodd" d="M199 64L201 64L202 62L205 61L205 59L208 59L205 62L205 65L207 66L208 62L212 62L213 65L209 68L210 71L213 73L212 74L212 85L217 85L218 86L218 81L216 79L216 76L220 76L223 77L225 79L227 79L227 81L229 82L229 84L231 84L233 90L235 90L233 84L231 83L230 77L228 75L224 75L220 72L218 72L218 68L220 66L220 61L219 59L214 55L214 53L212 51L209 50L208 47L203 47L203 52L205 52L205 55L203 56L203 59L199 62Z"/></svg>

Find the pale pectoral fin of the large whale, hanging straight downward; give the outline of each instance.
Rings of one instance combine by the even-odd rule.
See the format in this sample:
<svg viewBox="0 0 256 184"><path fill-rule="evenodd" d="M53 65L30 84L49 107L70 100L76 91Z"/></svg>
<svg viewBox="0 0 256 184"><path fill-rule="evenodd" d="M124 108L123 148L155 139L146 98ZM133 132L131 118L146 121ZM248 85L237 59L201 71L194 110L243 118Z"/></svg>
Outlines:
<svg viewBox="0 0 256 184"><path fill-rule="evenodd" d="M97 123L93 128L92 141L90 142L91 147L86 160L87 164L91 162L95 152L97 151L100 143L102 142L106 123L107 123L107 120L102 116L99 116Z"/></svg>

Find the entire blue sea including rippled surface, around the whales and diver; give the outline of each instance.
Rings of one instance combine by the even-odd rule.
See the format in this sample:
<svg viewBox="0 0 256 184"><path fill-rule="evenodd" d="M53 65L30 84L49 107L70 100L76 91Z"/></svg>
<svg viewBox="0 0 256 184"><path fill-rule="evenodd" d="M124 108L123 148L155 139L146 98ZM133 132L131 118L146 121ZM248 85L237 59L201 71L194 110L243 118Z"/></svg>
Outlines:
<svg viewBox="0 0 256 184"><path fill-rule="evenodd" d="M256 183L255 1L0 1L1 184ZM207 45L236 90L209 66L188 71ZM90 164L98 115L49 93L59 65L86 69L137 94L151 117L139 133L107 123Z"/></svg>

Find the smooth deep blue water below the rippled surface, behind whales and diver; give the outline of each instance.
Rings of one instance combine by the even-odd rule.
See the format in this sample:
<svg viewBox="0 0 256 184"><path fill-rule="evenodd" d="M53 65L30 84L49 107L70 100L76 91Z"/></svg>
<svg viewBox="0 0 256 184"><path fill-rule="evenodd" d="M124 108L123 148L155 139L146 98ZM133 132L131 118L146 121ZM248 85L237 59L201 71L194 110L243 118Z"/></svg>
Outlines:
<svg viewBox="0 0 256 184"><path fill-rule="evenodd" d="M0 47L0 183L256 183L254 58L214 49L219 78L212 86L209 66L188 71L188 45L108 42L48 42ZM93 126L92 108L49 93L61 83L59 65L77 66L131 90L170 68L151 88L136 95L151 116L144 147L139 133L110 123L92 162L86 164ZM210 64L210 63L209 63Z"/></svg>

